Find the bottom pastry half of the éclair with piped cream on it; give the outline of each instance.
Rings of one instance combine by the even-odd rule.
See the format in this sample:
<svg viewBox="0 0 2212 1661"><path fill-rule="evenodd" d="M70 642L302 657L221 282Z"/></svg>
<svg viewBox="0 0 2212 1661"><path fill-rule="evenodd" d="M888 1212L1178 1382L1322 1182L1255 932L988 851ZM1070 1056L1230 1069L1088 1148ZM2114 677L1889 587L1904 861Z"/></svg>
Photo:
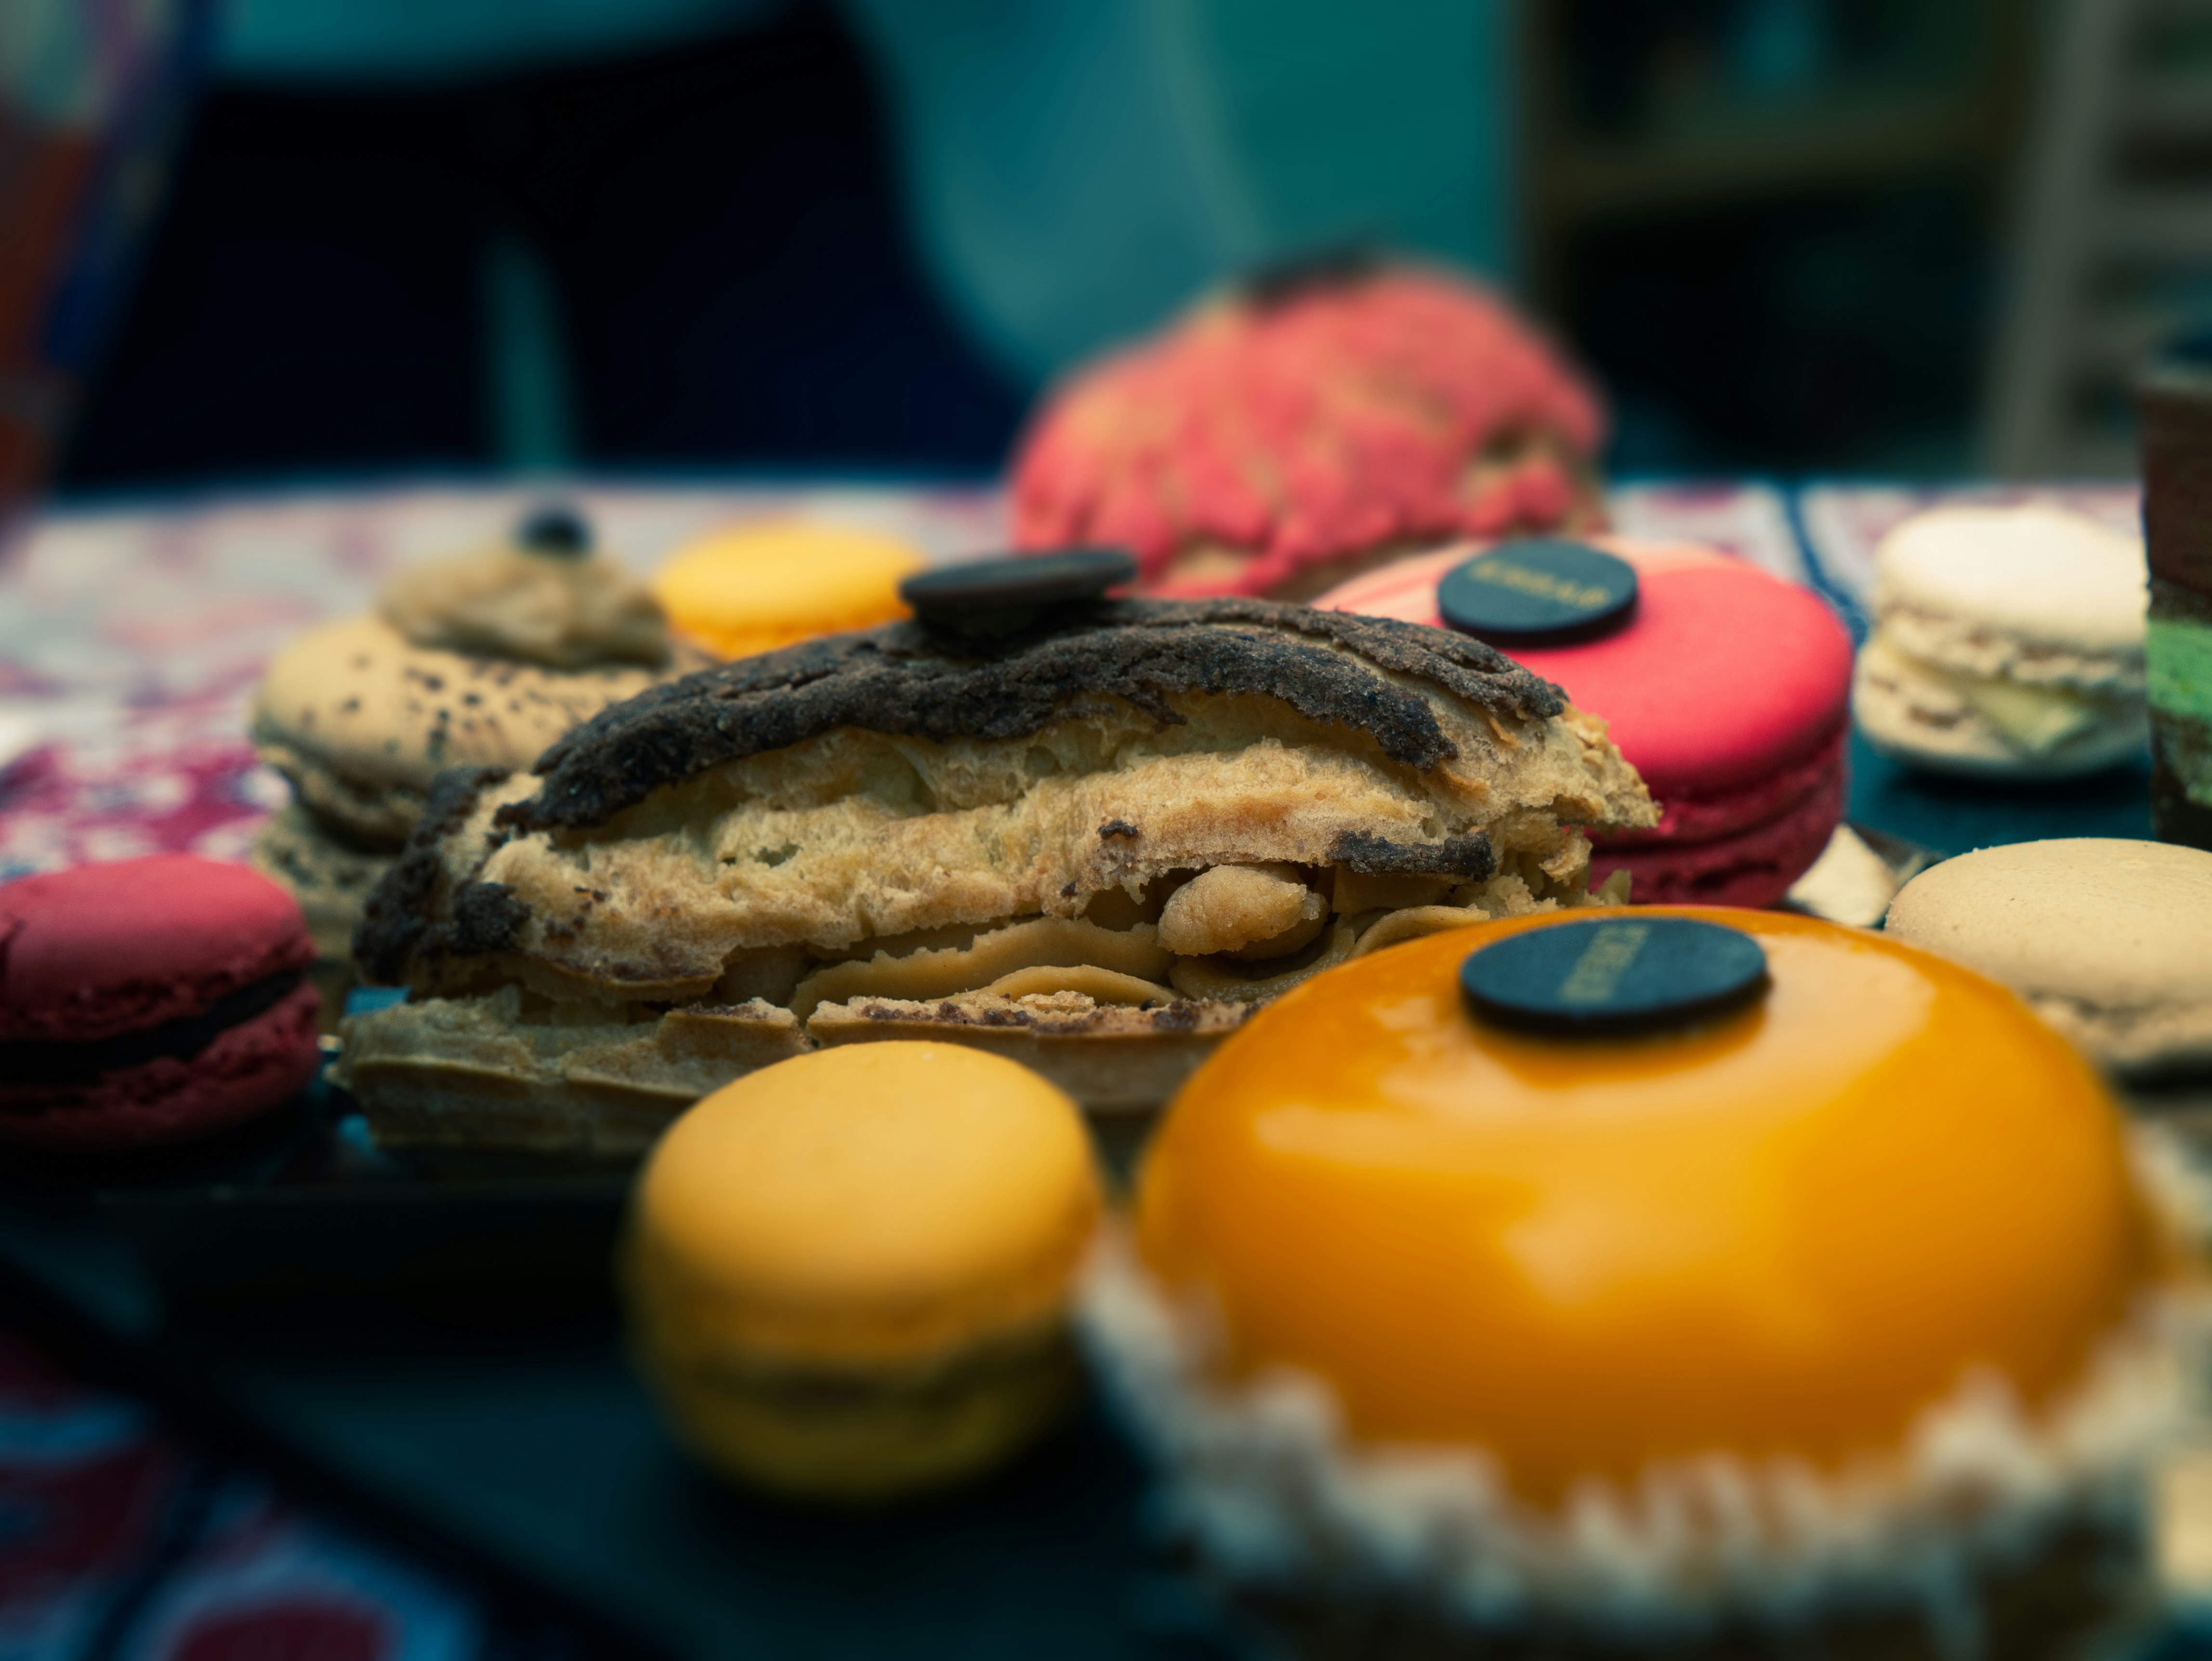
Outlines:
<svg viewBox="0 0 2212 1661"><path fill-rule="evenodd" d="M1088 922L1037 918L987 931L967 949L847 958L818 969L801 984L841 997L794 997L805 1002L803 1013L765 997L608 1006L544 997L522 984L425 997L354 1015L334 1077L361 1097L378 1141L392 1148L495 1146L595 1159L641 1152L677 1112L754 1068L830 1044L883 1040L993 1051L1042 1073L1095 1115L1141 1115L1164 1106L1261 1000L1296 980L1425 933L1562 905L1533 896L1511 874L1471 887L1467 898L1482 905L1336 913L1292 969L1181 960L1192 969L1175 986L1082 962L1004 969L1024 955L1024 938L1051 947L1077 931L1115 936ZM1349 891L1365 898L1374 887ZM1575 894L1568 905L1613 898L1619 885ZM1119 933L1121 944L1093 955L1168 958L1152 924ZM936 978L958 980L960 962L969 964L962 984L927 991Z"/></svg>

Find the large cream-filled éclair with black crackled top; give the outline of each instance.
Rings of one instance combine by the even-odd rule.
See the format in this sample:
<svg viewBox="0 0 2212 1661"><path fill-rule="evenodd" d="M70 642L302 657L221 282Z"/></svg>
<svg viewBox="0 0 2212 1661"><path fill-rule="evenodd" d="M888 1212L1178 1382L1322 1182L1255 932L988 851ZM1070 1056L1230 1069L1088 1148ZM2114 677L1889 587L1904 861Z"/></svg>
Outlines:
<svg viewBox="0 0 2212 1661"><path fill-rule="evenodd" d="M1604 723L1444 630L1250 599L889 624L456 770L376 889L341 1077L389 1146L624 1155L825 1044L1000 1051L1150 1110L1259 1002L1438 929L1626 898Z"/></svg>

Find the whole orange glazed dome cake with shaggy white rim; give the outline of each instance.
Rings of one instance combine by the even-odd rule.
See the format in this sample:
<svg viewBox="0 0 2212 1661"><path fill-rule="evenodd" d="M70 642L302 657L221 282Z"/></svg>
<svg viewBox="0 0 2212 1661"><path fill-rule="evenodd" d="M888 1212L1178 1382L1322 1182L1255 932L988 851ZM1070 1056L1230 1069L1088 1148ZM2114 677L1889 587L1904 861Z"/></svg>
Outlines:
<svg viewBox="0 0 2212 1661"><path fill-rule="evenodd" d="M1564 929L1575 1015L1686 922L1756 942L1747 1002L1608 1033L1462 991ZM1230 1040L1091 1331L1201 1557L1305 1652L2039 1652L1993 1586L2124 1537L2190 1415L2199 1296L2146 1170L1969 971L1778 913L1517 918ZM2088 1579L2037 1584L2055 1639Z"/></svg>

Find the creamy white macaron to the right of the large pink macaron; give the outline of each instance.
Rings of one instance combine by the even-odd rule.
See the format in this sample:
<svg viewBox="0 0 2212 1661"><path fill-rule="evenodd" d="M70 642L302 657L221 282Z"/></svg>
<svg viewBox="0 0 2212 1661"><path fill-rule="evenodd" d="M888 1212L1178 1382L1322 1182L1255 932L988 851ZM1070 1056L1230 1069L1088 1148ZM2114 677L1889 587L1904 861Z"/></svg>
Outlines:
<svg viewBox="0 0 2212 1661"><path fill-rule="evenodd" d="M2064 779L2139 754L2141 537L2055 506L1947 506L1876 553L1851 710L1887 756Z"/></svg>

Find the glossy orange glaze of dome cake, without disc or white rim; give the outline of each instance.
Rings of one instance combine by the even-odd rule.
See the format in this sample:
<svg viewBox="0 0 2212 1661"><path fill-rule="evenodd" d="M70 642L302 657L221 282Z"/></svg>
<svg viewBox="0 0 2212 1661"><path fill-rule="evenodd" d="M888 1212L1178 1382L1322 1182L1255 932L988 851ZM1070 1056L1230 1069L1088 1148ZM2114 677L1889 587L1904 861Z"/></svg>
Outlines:
<svg viewBox="0 0 2212 1661"><path fill-rule="evenodd" d="M1761 1004L1575 1042L1464 1013L1517 918L1298 986L1183 1088L1146 1263L1230 1367L1349 1429L1489 1449L1535 1502L1710 1451L1896 1446L1975 1367L2075 1380L2163 1250L2093 1073L1995 984L1772 911ZM1639 916L1659 913L1659 907Z"/></svg>

